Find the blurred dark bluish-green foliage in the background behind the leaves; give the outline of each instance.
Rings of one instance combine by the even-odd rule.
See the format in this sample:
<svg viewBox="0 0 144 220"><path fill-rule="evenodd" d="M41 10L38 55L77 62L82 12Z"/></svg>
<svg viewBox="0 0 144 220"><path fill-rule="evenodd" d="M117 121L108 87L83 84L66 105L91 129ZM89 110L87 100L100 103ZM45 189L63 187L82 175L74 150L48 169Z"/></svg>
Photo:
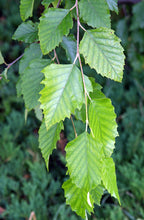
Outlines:
<svg viewBox="0 0 144 220"><path fill-rule="evenodd" d="M34 20L41 13L37 7ZM119 137L113 158L121 198L120 207L108 193L102 197L101 207L89 220L144 219L144 1L119 5L119 15L112 13L112 27L122 39L126 64L122 84L100 77L87 65L84 71L94 76L112 99L117 113ZM21 23L19 1L0 1L0 49L7 63L24 50L12 35ZM75 29L72 30L75 32ZM59 50L57 49L59 54ZM65 52L61 62L68 62ZM4 66L0 66L0 72ZM45 168L38 149L40 122L34 112L25 122L25 108L16 96L18 63L8 71L7 83L0 80L0 219L26 220L32 211L37 220L79 220L65 199L61 185L65 180L65 159L57 150L50 158L50 172ZM83 124L74 120L81 133ZM74 138L71 121L65 120L68 140Z"/></svg>

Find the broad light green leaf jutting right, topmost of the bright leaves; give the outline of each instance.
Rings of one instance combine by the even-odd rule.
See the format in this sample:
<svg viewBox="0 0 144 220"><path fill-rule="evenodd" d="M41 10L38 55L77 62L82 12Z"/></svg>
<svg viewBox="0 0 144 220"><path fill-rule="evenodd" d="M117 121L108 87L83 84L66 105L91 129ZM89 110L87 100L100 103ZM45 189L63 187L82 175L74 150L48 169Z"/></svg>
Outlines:
<svg viewBox="0 0 144 220"><path fill-rule="evenodd" d="M88 30L80 43L86 63L102 76L120 82L123 77L124 54L120 39L107 28Z"/></svg>

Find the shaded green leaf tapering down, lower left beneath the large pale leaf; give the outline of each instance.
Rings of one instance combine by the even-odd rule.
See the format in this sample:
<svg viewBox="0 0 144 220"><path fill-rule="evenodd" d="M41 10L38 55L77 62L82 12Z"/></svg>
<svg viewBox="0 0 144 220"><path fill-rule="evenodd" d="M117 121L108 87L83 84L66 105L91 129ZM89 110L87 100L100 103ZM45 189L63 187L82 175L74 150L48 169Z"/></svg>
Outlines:
<svg viewBox="0 0 144 220"><path fill-rule="evenodd" d="M39 129L39 148L45 160L48 169L49 157L52 151L56 148L57 140L60 139L60 132L63 129L62 122L53 125L48 131L46 130L45 122L43 121Z"/></svg>

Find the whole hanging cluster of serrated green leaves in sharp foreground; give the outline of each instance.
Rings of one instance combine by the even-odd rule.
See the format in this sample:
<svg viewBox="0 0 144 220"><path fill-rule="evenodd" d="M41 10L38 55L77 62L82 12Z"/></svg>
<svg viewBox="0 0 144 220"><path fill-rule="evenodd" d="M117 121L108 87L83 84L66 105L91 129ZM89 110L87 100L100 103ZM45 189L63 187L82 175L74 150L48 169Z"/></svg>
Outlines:
<svg viewBox="0 0 144 220"><path fill-rule="evenodd" d="M43 1L44 12L40 22L34 23L26 21L33 14L34 1L20 1L23 23L13 39L30 46L20 61L17 93L18 96L23 95L27 111L34 109L42 121L39 143L47 168L49 156L56 148L63 129L62 121L73 114L86 124L85 131L78 137L75 133L76 138L67 144L66 161L70 177L63 184L67 203L84 218L87 212L93 212L94 203L100 204L105 189L119 203L120 199L111 158L118 135L116 115L111 100L101 92L100 84L84 75L80 54L97 73L118 82L123 76L124 55L119 38L110 29L109 7L117 12L115 1L76 0L75 4L71 1L72 6L63 3L58 8L60 3ZM74 9L76 15L72 13ZM81 25L79 16L89 25L87 30ZM72 18L77 19L77 43L74 36L69 35L73 27ZM80 45L79 28L84 30ZM55 48L60 42L70 64L59 63ZM51 58L52 50L54 58ZM58 64L54 63L55 59Z"/></svg>

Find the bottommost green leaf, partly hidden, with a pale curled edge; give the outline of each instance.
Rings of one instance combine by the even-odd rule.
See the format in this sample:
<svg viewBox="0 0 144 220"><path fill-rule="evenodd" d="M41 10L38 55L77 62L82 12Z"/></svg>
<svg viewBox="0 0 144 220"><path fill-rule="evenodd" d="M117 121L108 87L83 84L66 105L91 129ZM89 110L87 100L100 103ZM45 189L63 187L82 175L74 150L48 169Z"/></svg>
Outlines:
<svg viewBox="0 0 144 220"><path fill-rule="evenodd" d="M85 189L78 188L71 179L68 179L62 185L66 203L69 204L73 211L75 211L82 218L85 218L86 210L89 212L93 212L93 199L89 192Z"/></svg>

